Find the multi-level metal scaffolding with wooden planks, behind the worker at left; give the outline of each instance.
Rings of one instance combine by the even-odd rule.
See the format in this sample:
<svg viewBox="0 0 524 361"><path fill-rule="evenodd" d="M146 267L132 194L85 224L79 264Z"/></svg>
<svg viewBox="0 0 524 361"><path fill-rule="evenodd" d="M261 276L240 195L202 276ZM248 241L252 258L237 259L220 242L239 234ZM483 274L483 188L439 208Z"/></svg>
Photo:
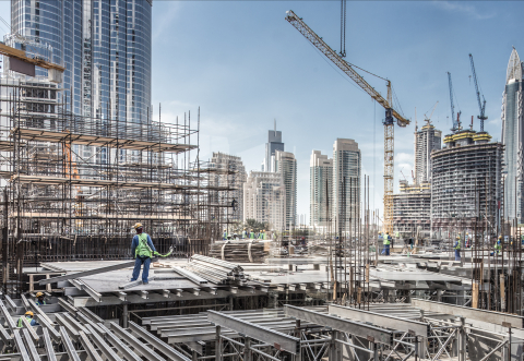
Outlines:
<svg viewBox="0 0 524 361"><path fill-rule="evenodd" d="M236 188L234 171L214 184L219 170L199 158L200 110L175 124L131 123L117 108L79 117L48 84L0 83L4 291L20 292L24 266L130 257L136 221L159 252L206 254L233 221Z"/></svg>

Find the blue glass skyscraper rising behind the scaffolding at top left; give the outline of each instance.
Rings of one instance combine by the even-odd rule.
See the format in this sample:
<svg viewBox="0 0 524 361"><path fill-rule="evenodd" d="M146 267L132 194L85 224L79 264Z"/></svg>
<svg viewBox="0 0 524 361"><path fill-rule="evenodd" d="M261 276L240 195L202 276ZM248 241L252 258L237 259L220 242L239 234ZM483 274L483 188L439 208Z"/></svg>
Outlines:
<svg viewBox="0 0 524 361"><path fill-rule="evenodd" d="M11 0L11 24L14 34L52 47L52 61L66 67L61 87L74 115L145 123L151 1Z"/></svg>

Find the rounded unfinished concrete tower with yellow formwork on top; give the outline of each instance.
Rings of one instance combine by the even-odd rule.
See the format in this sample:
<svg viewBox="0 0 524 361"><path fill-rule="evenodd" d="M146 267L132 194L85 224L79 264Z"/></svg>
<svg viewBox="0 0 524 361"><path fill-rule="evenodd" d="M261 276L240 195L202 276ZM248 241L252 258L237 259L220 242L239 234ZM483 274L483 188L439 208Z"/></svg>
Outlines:
<svg viewBox="0 0 524 361"><path fill-rule="evenodd" d="M503 145L485 132L463 130L444 137L431 154L431 229L452 233L481 225L486 236L499 230Z"/></svg>

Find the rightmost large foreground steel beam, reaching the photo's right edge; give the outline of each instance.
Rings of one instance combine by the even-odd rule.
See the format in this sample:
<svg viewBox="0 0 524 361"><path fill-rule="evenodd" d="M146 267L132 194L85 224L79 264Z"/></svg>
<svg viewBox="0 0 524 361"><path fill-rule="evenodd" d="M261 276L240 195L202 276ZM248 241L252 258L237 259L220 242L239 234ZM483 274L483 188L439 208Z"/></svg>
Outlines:
<svg viewBox="0 0 524 361"><path fill-rule="evenodd" d="M462 305L453 305L443 302L427 301L421 299L412 299L412 306L429 312L439 312L443 314L451 314L454 316L462 316L466 320L475 320L496 325L508 325L515 328L524 327L524 317L495 311L477 310L465 308Z"/></svg>

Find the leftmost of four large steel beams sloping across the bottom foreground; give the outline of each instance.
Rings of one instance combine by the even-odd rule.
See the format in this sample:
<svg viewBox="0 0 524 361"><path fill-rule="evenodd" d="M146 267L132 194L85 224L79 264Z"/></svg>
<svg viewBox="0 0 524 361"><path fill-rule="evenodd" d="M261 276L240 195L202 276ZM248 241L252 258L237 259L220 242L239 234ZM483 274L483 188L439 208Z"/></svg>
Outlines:
<svg viewBox="0 0 524 361"><path fill-rule="evenodd" d="M207 311L207 321L293 354L300 352L300 339L221 312Z"/></svg>

